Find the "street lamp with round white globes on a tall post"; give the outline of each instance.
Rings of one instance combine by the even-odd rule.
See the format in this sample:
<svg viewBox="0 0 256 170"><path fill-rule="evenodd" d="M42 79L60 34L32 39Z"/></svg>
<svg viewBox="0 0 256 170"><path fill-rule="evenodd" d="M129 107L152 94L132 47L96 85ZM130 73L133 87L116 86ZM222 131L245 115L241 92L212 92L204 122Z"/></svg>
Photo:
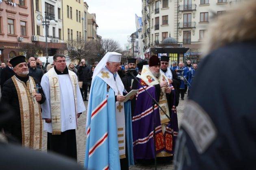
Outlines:
<svg viewBox="0 0 256 170"><path fill-rule="evenodd" d="M43 19L43 15L37 15L37 26L46 26L46 64L48 64L48 42L47 42L47 36L48 36L48 27L50 25L55 25L55 21L52 19L50 21L47 21L47 14L45 12L45 17ZM48 19L49 20L49 19Z"/></svg>

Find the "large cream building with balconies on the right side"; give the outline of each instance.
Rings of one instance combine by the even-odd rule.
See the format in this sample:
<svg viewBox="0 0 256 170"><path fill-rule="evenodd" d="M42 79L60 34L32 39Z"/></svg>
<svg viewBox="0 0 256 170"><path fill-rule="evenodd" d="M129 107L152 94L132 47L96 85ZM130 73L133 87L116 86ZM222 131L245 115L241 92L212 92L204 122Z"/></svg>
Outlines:
<svg viewBox="0 0 256 170"><path fill-rule="evenodd" d="M174 38L190 50L188 58L198 57L208 23L240 0L143 0L143 52L161 46L167 37Z"/></svg>

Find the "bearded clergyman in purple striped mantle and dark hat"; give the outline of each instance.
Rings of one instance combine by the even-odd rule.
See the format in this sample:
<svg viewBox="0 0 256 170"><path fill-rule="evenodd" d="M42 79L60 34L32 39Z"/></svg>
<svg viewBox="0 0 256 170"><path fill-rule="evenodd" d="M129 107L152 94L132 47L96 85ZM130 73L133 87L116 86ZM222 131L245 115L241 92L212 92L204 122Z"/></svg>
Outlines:
<svg viewBox="0 0 256 170"><path fill-rule="evenodd" d="M171 161L174 152L174 138L178 133L178 120L173 98L174 87L169 83L165 74L160 72L160 65L160 60L156 55L150 57L149 65L144 65L142 68L137 85L139 91L132 117L135 161L150 160L155 157L163 157L163 161ZM163 110L158 108L142 86Z"/></svg>

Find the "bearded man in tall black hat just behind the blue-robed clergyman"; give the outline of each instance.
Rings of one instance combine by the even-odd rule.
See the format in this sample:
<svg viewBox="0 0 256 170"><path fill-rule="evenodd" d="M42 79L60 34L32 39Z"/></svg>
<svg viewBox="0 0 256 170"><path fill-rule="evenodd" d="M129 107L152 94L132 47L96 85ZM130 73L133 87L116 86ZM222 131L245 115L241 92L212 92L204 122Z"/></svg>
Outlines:
<svg viewBox="0 0 256 170"><path fill-rule="evenodd" d="M136 68L136 59L135 58L129 58L128 59L128 67L129 69L135 69ZM121 80L124 84L124 88L126 89L126 91L129 93L132 89L132 80L134 79L134 77L132 77L132 74L136 77L138 72L136 70L132 70L129 72L126 72L123 77L121 77ZM131 74L132 73L132 74Z"/></svg>

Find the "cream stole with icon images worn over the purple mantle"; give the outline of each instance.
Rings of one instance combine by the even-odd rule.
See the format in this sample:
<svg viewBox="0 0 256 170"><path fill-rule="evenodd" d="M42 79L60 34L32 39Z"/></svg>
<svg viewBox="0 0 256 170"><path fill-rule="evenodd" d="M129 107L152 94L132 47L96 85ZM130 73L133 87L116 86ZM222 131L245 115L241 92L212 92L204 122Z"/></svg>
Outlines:
<svg viewBox="0 0 256 170"><path fill-rule="evenodd" d="M164 81L167 82L168 85L169 85L169 81L168 81L167 77L164 74L162 74L160 72L160 76L158 78L156 78L152 74L152 72L150 71L148 66L143 66L143 69L141 71L141 79L143 81L145 81L145 83L147 83L147 85L149 85L149 86L157 85L157 84L160 84ZM163 110L165 110L165 113L168 116L170 115L169 114L169 107L168 107L168 103L167 103L167 98L166 98L166 93L165 93L165 87L162 87L161 91L160 91L159 106L161 106L161 108L163 108ZM161 124L167 123L167 122L170 121L161 109L159 109L159 113L160 113L160 118L161 118Z"/></svg>

